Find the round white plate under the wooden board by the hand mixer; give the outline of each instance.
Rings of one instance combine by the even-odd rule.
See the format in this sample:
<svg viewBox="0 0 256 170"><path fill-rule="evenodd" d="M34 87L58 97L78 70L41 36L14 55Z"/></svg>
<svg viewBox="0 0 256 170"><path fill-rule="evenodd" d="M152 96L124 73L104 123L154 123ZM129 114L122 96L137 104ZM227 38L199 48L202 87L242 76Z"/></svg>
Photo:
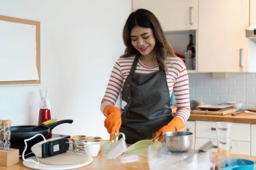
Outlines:
<svg viewBox="0 0 256 170"><path fill-rule="evenodd" d="M36 160L36 157L29 157L28 159L32 159L34 161ZM75 169L75 168L79 168L79 167L84 167L90 163L92 163L93 159L92 157L88 157L88 160L85 161L84 163L77 163L77 164L71 164L71 165L46 165L43 163L34 163L32 161L23 161L23 165L25 167L29 167L32 169L47 169L47 170L64 170L64 169Z"/></svg>

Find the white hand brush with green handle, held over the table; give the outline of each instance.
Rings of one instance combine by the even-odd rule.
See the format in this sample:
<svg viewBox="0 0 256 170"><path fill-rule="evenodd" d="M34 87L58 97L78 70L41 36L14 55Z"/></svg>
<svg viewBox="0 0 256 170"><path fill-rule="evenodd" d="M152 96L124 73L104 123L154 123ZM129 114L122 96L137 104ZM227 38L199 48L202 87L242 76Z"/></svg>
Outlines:
<svg viewBox="0 0 256 170"><path fill-rule="evenodd" d="M118 140L119 135L123 136L120 140ZM126 149L125 134L119 132L118 134L115 134L113 141L108 142L108 145L106 146L106 151L108 151L106 158L115 159L124 153Z"/></svg>

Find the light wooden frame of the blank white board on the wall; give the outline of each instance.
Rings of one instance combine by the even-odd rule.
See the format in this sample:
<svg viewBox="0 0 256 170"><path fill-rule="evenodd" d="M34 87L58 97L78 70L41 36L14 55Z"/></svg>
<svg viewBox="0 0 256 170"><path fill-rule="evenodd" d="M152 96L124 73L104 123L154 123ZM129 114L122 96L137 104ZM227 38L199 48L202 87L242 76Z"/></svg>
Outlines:
<svg viewBox="0 0 256 170"><path fill-rule="evenodd" d="M38 80L0 81L0 85L40 84L40 22L3 15L0 15L0 20L19 24L29 24L36 27L36 68L38 71Z"/></svg>

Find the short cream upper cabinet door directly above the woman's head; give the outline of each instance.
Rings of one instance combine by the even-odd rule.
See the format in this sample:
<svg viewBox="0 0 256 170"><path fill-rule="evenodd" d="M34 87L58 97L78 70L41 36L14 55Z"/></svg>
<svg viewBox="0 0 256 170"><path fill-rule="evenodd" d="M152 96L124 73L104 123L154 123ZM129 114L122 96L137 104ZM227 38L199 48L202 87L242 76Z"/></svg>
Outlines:
<svg viewBox="0 0 256 170"><path fill-rule="evenodd" d="M133 11L139 8L152 11L164 31L197 30L197 0L133 0Z"/></svg>

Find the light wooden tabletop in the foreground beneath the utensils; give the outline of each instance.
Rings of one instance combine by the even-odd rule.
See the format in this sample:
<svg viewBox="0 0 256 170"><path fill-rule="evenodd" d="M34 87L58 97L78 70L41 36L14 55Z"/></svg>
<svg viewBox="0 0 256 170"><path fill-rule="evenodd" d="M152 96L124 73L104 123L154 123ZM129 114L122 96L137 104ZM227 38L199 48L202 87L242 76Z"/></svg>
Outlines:
<svg viewBox="0 0 256 170"><path fill-rule="evenodd" d="M212 153L212 155L216 155L216 153ZM250 159L252 161L256 161L256 157L248 156L248 155L231 155L232 158L241 158L241 159ZM30 168L24 167L22 165L22 159L20 159L20 163L9 166L9 167L1 167L1 170L31 170ZM94 161L90 165L86 165L84 167L77 168L77 170L86 169L86 170L131 170L131 169L141 169L148 170L148 160L145 157L138 157L136 155L123 154L117 159L106 159L106 157L102 156L101 153L98 157L94 157Z"/></svg>

